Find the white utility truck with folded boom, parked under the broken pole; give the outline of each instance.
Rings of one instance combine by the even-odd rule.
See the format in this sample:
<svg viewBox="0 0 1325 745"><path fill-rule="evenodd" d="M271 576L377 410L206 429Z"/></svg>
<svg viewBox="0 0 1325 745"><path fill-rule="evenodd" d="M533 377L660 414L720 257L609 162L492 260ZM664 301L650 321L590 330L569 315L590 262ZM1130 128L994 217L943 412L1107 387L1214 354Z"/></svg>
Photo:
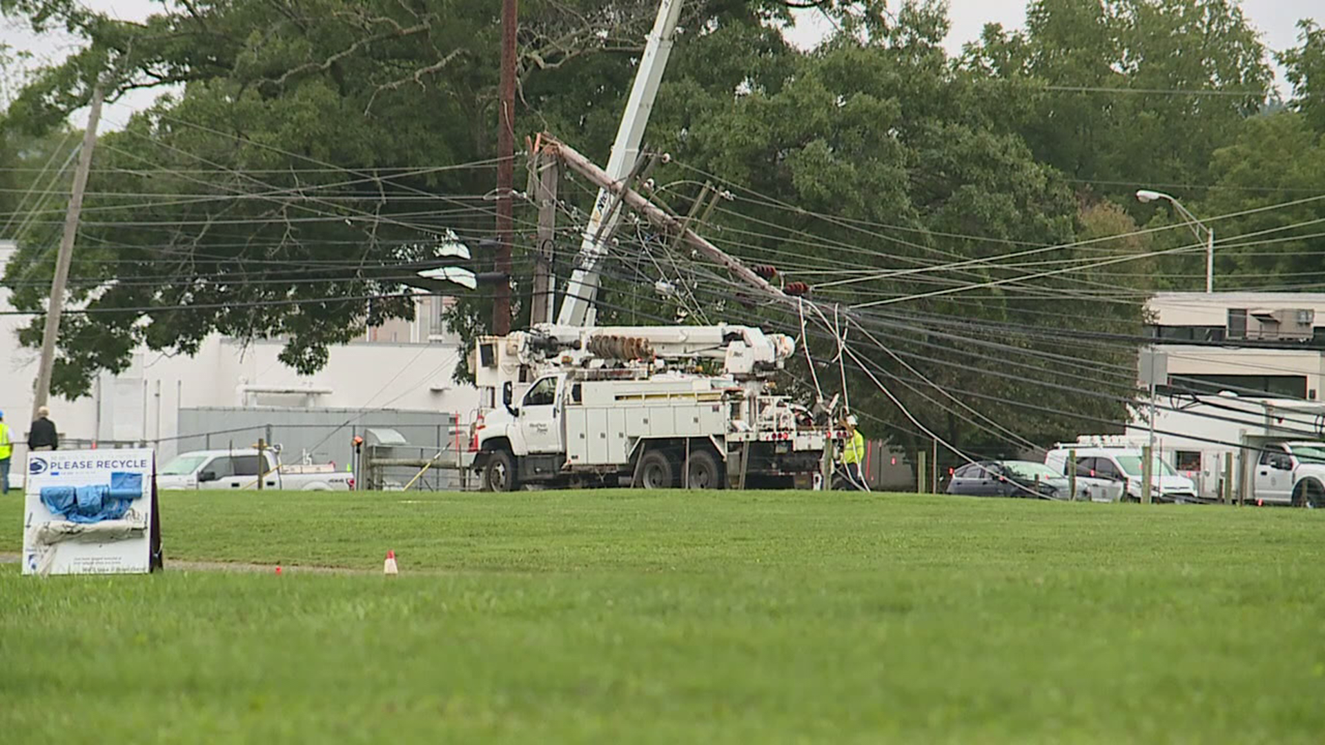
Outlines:
<svg viewBox="0 0 1325 745"><path fill-rule="evenodd" d="M747 326L485 337L476 382L496 400L474 431L482 488L810 487L833 432L772 392L794 350Z"/></svg>

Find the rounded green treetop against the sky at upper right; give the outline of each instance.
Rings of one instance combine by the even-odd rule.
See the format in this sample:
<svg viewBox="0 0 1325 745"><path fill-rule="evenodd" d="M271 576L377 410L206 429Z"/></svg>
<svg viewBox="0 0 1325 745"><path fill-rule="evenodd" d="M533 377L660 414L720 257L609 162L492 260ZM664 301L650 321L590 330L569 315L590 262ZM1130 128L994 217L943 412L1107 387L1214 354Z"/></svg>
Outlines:
<svg viewBox="0 0 1325 745"><path fill-rule="evenodd" d="M1199 182L1272 81L1232 0L1035 0L1024 32L987 27L963 64L1039 87L1032 151L1117 196Z"/></svg>

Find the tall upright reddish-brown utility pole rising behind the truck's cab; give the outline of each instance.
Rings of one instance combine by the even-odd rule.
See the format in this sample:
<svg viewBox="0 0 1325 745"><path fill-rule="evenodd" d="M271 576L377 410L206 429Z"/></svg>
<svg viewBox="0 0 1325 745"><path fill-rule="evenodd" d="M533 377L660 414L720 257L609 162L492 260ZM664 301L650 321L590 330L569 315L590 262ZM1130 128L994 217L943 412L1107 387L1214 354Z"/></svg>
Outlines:
<svg viewBox="0 0 1325 745"><path fill-rule="evenodd" d="M497 101L497 261L506 274L493 298L493 334L510 333L511 188L515 180L515 24L517 0L501 4L501 95Z"/></svg>

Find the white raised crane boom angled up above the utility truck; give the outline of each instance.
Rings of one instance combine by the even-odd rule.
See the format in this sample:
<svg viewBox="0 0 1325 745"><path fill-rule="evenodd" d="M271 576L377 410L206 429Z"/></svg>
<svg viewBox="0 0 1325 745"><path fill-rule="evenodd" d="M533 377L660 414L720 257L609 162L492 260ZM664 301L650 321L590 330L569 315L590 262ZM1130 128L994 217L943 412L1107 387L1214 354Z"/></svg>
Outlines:
<svg viewBox="0 0 1325 745"><path fill-rule="evenodd" d="M623 182L631 175L631 168L640 154L644 141L644 127L649 123L653 99L657 97L662 70L672 54L672 37L681 16L682 0L662 0L640 57L640 69L635 73L635 84L621 114L621 126L616 130L612 155L607 162L607 175L613 182ZM616 203L610 190L600 188L594 200L594 211L580 243L579 260L566 285L562 309L556 315L560 326L591 326L590 309L598 297L600 264L607 253L606 243L616 228Z"/></svg>

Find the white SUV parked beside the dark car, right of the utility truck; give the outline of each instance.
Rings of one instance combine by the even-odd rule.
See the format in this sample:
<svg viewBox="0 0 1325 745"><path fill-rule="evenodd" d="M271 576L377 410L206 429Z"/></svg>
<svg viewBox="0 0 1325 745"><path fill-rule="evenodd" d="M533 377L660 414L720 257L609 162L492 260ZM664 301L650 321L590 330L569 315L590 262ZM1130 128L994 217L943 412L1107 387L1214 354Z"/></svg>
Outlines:
<svg viewBox="0 0 1325 745"><path fill-rule="evenodd" d="M1056 473L1068 473L1068 455L1076 453L1077 480L1085 480L1094 501L1141 501L1140 448L1075 445L1059 443L1044 456ZM1195 502L1196 484L1179 475L1163 460L1154 459L1150 493L1155 501Z"/></svg>

